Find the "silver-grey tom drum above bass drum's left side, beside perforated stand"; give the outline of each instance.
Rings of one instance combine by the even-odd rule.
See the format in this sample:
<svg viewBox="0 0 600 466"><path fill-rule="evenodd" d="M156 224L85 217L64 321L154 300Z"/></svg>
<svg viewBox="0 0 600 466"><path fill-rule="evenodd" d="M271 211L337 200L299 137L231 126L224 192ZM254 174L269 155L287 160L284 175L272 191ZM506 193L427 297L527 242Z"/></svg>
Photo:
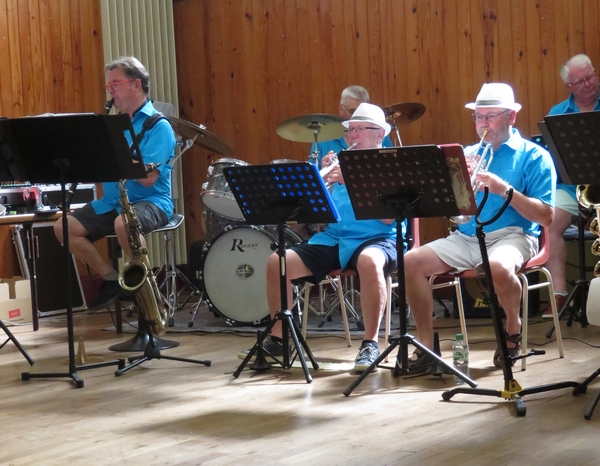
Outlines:
<svg viewBox="0 0 600 466"><path fill-rule="evenodd" d="M202 185L200 194L202 203L207 209L231 220L244 220L242 211L231 194L223 169L245 165L250 164L237 159L219 159L208 167L207 181Z"/></svg>

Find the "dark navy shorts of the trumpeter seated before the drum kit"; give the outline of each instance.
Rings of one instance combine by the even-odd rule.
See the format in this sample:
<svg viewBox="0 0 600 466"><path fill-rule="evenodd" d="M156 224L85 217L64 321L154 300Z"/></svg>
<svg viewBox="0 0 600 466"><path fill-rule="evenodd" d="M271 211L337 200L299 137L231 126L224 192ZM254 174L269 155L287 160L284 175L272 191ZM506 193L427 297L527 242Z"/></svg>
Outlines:
<svg viewBox="0 0 600 466"><path fill-rule="evenodd" d="M385 256L384 274L387 276L396 269L396 242L391 239L378 238L364 242L361 244L350 258L347 267L356 268L358 256L367 248L377 248ZM292 246L292 249L304 265L312 273L312 277L306 279L317 284L325 278L332 270L341 268L338 246L323 246L321 244L308 244L306 242Z"/></svg>

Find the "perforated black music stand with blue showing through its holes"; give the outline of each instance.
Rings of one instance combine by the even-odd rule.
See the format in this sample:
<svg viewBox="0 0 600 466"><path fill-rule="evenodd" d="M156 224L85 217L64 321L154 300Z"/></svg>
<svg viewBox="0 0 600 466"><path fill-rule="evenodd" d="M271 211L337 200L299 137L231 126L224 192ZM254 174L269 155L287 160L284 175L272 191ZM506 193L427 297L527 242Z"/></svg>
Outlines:
<svg viewBox="0 0 600 466"><path fill-rule="evenodd" d="M279 233L277 254L279 255L279 286L281 309L275 313L264 332L259 332L256 344L244 361L233 373L238 378L246 364L260 349L257 360L262 355L262 343L273 326L281 321L283 335L283 360L277 359L283 369L292 367L295 357L290 350L289 336L294 343L295 353L304 371L306 382L312 377L306 365L303 350L312 362L313 368L319 365L313 357L302 334L287 308L287 276L285 265L284 225L297 223L335 223L339 214L325 188L323 179L315 165L308 162L251 165L224 169L225 178L240 206L245 220L250 225L277 225ZM263 366L268 369L270 366Z"/></svg>

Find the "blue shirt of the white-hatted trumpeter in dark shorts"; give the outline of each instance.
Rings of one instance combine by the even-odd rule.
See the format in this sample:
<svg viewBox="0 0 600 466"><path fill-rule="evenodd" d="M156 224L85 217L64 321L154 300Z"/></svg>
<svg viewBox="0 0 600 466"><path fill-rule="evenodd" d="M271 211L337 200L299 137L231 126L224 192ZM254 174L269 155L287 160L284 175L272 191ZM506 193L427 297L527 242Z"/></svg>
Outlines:
<svg viewBox="0 0 600 466"><path fill-rule="evenodd" d="M396 239L396 222L388 225L380 220L356 220L345 185L334 184L331 197L341 220L338 223L330 223L325 231L313 235L308 243L324 246L339 244L342 268L346 267L356 249L364 242L376 238ZM402 237L406 233L405 223L402 224Z"/></svg>

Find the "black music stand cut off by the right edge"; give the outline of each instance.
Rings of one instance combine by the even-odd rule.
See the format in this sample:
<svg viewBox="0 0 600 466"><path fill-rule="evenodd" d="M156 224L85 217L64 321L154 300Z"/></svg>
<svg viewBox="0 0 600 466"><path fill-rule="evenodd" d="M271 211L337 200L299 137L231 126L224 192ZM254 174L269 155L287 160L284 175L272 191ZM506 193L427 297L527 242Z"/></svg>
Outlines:
<svg viewBox="0 0 600 466"><path fill-rule="evenodd" d="M556 171L561 181L565 184L585 185L599 184L598 167L600 157L597 143L600 142L600 112L568 113L564 115L549 115L544 121L538 123L544 142L554 159ZM573 302L571 314L567 321L570 327L576 317L582 327L586 327L587 311L586 302L589 291L589 281L585 271L585 235L583 231L583 218L578 216L579 229L579 279L569 293L562 309L559 309L559 320ZM578 312L579 311L579 312ZM550 338L554 332L554 324L550 326L546 337Z"/></svg>

